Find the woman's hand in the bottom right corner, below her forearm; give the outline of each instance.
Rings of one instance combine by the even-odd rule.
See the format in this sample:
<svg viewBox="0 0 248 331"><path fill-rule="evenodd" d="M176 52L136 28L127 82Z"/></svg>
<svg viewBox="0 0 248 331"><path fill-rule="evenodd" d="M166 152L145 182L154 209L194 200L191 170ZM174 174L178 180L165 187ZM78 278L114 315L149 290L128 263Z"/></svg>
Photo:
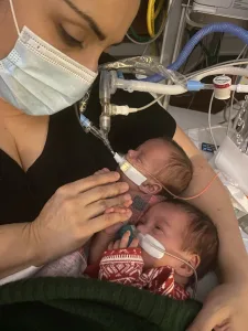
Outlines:
<svg viewBox="0 0 248 331"><path fill-rule="evenodd" d="M218 286L187 331L248 330L248 279Z"/></svg>

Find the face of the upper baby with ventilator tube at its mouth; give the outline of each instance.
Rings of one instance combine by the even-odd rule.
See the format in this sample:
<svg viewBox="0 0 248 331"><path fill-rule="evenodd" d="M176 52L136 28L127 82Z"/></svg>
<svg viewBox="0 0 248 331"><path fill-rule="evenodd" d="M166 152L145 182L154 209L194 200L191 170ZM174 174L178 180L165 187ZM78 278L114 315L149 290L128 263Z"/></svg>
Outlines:
<svg viewBox="0 0 248 331"><path fill-rule="evenodd" d="M129 150L126 159L149 179L149 173L157 174L164 168L170 158L171 149L160 139L151 139L142 143L137 150ZM131 191L138 191L138 186L118 169L120 181L127 182Z"/></svg>

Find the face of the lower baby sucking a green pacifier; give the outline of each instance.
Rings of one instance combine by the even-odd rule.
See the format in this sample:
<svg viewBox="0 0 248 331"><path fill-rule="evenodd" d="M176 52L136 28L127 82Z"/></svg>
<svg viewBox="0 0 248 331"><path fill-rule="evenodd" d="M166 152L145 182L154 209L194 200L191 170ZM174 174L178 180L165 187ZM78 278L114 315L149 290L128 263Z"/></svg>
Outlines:
<svg viewBox="0 0 248 331"><path fill-rule="evenodd" d="M152 206L137 224L138 231L142 234L150 234L159 241L165 249L181 258L187 259L183 252L184 233L188 226L188 217L176 206L163 202ZM144 266L147 268L171 266L176 268L179 260L166 254L161 259L155 259L142 252ZM182 263L181 263L182 264Z"/></svg>

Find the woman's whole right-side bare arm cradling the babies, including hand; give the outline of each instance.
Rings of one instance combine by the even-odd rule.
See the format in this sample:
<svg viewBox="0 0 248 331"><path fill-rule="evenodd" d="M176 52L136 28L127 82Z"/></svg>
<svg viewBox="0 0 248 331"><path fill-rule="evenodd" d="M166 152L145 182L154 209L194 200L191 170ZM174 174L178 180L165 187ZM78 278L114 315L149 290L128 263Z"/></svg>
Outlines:
<svg viewBox="0 0 248 331"><path fill-rule="evenodd" d="M185 196L193 196L211 182L215 172L179 127L174 140L182 146L192 160L194 175ZM218 229L219 267L224 285L209 295L202 312L188 331L211 331L223 322L228 323L230 327L228 330L231 331L247 330L248 258L229 194L216 179L203 195L192 200L191 203L205 212Z"/></svg>

